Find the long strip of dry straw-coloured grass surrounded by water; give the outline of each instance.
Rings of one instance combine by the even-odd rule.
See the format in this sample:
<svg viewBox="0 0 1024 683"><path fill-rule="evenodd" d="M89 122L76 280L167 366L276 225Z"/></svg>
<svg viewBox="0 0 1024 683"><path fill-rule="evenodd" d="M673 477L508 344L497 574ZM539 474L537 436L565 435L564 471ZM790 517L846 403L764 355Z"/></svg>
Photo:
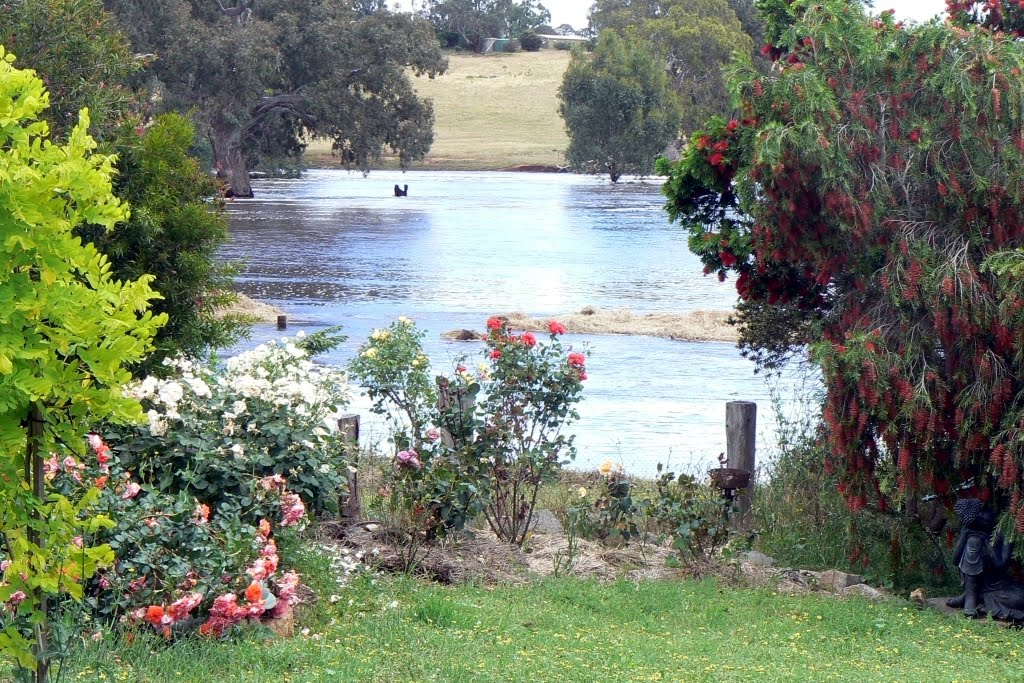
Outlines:
<svg viewBox="0 0 1024 683"><path fill-rule="evenodd" d="M644 335L681 341L735 342L736 329L729 325L732 313L723 310L693 310L684 313L635 313L627 308L602 310L588 306L578 313L555 317L531 317L522 312L508 313L509 325L517 330L547 332L557 319L567 332L592 335Z"/></svg>

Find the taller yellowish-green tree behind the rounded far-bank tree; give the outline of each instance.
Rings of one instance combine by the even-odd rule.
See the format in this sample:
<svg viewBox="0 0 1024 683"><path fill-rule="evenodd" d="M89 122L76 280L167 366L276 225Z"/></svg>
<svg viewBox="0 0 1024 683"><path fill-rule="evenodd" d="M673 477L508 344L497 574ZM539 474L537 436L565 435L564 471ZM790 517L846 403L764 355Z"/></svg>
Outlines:
<svg viewBox="0 0 1024 683"><path fill-rule="evenodd" d="M709 117L732 109L722 69L733 54L752 52L760 23L749 0L597 0L591 24L598 32L611 30L624 40L642 37L651 45L663 59L688 134Z"/></svg>

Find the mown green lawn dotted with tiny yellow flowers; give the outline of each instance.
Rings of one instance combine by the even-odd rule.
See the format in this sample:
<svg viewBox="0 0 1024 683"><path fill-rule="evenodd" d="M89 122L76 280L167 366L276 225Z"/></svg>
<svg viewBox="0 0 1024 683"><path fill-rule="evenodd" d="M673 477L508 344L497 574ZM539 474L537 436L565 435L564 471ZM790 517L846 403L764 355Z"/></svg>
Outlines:
<svg viewBox="0 0 1024 683"><path fill-rule="evenodd" d="M326 561L311 560L324 579ZM328 588L328 587L324 587ZM306 635L90 645L67 681L1020 681L1024 637L905 602L573 579L522 587L361 578Z"/></svg>

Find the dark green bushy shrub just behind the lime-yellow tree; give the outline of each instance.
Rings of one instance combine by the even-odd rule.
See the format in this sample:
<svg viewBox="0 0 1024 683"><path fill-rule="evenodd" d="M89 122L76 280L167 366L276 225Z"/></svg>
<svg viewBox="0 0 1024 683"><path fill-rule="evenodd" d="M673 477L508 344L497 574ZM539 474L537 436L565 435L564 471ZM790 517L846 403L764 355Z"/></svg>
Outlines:
<svg viewBox="0 0 1024 683"><path fill-rule="evenodd" d="M154 304L167 325L155 340L156 351L133 370L159 371L164 358L179 353L201 356L230 346L248 335L240 316L218 316L233 300L231 269L216 259L227 241L227 220L212 202L219 184L188 155L195 132L182 116L158 117L138 132L122 130L112 146L118 154L115 194L132 207L131 217L104 231L83 226L78 233L106 255L122 280L153 275L163 297Z"/></svg>

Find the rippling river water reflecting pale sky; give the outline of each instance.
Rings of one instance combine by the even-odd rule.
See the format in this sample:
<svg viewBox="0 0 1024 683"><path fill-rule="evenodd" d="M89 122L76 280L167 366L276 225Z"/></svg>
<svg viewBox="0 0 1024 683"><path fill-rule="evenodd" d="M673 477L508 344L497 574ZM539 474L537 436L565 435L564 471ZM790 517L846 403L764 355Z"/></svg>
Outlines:
<svg viewBox="0 0 1024 683"><path fill-rule="evenodd" d="M394 183L409 196L393 196ZM288 334L341 325L349 341L324 357L343 365L374 328L399 315L428 331L435 371L479 344L440 334L481 330L488 315L557 315L584 306L634 311L729 309L731 283L706 278L670 225L654 180L542 173L310 171L254 183L229 205L222 257L243 262L239 288L289 313ZM259 326L252 343L282 333ZM731 344L567 335L593 352L580 407L577 466L605 460L650 474L697 468L725 450L725 403L758 402L759 447L775 439L770 401L794 404L793 378L772 382ZM353 410L369 417L365 398ZM370 422L367 438L383 439Z"/></svg>

